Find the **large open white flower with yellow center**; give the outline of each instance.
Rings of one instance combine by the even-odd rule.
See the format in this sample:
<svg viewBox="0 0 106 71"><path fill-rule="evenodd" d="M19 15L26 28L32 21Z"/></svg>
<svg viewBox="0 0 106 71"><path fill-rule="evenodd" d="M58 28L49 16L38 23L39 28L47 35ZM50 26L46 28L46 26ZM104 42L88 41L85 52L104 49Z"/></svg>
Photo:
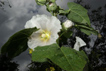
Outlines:
<svg viewBox="0 0 106 71"><path fill-rule="evenodd" d="M55 17L46 15L33 16L31 20L26 22L25 28L39 28L33 32L28 39L29 48L33 49L37 46L45 46L56 43L58 32L61 29L60 21Z"/></svg>

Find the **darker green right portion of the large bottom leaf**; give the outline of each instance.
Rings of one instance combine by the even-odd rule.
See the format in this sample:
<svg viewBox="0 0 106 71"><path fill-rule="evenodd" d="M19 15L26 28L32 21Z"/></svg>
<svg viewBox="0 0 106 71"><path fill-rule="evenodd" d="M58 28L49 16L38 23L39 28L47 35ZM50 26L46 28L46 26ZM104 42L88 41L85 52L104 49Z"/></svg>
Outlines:
<svg viewBox="0 0 106 71"><path fill-rule="evenodd" d="M85 67L87 57L85 53L77 52L74 49L62 47L57 50L57 54L50 58L52 62L66 71L83 71Z"/></svg>

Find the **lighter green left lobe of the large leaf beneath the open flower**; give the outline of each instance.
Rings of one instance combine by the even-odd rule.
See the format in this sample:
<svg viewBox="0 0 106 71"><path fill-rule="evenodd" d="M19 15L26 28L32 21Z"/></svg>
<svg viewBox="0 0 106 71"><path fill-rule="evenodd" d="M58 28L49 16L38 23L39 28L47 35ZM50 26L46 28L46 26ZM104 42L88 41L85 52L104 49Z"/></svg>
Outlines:
<svg viewBox="0 0 106 71"><path fill-rule="evenodd" d="M57 44L52 44L48 46L38 46L32 52L32 60L36 62L44 62L47 58L54 56L55 51L58 49Z"/></svg>

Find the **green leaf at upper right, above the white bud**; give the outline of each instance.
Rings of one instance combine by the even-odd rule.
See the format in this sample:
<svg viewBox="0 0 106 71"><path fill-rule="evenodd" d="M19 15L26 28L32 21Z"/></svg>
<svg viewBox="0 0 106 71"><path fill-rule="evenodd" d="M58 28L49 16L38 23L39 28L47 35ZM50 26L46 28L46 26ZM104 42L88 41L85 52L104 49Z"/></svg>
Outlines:
<svg viewBox="0 0 106 71"><path fill-rule="evenodd" d="M68 19L74 22L88 24L90 26L87 10L84 7L73 2L68 3L68 7L70 9L70 13L67 16Z"/></svg>

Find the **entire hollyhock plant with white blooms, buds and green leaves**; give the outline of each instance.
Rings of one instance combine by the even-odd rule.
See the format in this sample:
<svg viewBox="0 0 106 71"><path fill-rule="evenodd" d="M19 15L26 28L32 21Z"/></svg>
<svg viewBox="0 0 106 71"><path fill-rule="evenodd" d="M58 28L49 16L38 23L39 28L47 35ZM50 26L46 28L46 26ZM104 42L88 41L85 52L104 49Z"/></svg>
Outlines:
<svg viewBox="0 0 106 71"><path fill-rule="evenodd" d="M101 37L91 27L87 10L74 2L68 2L69 9L65 10L58 6L56 0L35 1L38 5L45 5L47 11L53 16L33 16L26 22L25 29L13 34L1 47L0 54L6 54L13 59L30 48L29 53L34 70L38 68L37 71L83 71L89 64L89 60L85 52L79 49L86 43L74 35L78 33L74 29L88 36L95 34ZM67 20L63 22L64 19ZM73 37L76 37L74 47L64 46L70 45L67 44L67 40L74 41ZM34 66L35 62L40 62L42 65ZM48 65L45 65L45 62L48 62ZM43 65L47 68L39 70Z"/></svg>

